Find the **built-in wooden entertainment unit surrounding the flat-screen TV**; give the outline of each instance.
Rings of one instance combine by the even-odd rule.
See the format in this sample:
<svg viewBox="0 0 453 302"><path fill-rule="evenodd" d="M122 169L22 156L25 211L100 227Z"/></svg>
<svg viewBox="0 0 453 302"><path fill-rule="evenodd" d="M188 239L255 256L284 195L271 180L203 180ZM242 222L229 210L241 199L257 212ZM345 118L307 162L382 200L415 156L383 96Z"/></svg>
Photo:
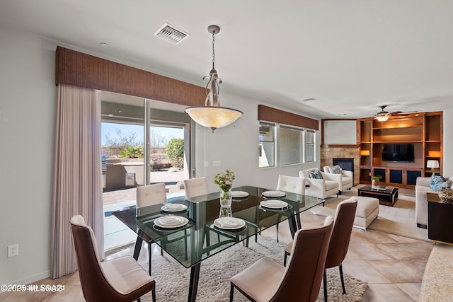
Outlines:
<svg viewBox="0 0 453 302"><path fill-rule="evenodd" d="M442 174L442 112L420 112L392 116L386 122L370 117L357 120L360 145L360 183L371 183L373 175L382 175L382 185L413 188L419 176ZM382 160L382 149L389 143L411 143L413 162ZM439 162L430 169L428 160Z"/></svg>

